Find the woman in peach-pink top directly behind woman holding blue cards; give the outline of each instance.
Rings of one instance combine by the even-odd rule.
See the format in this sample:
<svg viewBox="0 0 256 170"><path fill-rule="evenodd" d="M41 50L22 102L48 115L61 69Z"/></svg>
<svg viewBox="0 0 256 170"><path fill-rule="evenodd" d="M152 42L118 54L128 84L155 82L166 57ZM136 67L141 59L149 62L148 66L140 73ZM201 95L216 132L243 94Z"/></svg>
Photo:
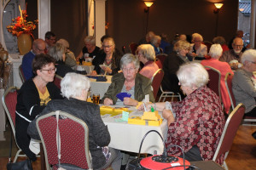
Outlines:
<svg viewBox="0 0 256 170"><path fill-rule="evenodd" d="M150 80L153 77L155 71L159 69L155 64L154 48L150 44L142 44L137 48L137 57L143 63L144 67L139 73L144 77L148 77Z"/></svg>

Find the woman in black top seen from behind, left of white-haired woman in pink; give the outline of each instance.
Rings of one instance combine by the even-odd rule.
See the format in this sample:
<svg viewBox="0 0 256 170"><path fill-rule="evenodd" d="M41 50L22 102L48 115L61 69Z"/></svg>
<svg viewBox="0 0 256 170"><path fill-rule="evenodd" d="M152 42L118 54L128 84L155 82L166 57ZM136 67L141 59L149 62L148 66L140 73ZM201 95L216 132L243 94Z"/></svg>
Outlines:
<svg viewBox="0 0 256 170"><path fill-rule="evenodd" d="M169 54L163 65L165 72L162 88L166 91L180 93L176 72L180 65L189 61L187 54L189 53L189 42L179 40L174 44L172 54Z"/></svg>

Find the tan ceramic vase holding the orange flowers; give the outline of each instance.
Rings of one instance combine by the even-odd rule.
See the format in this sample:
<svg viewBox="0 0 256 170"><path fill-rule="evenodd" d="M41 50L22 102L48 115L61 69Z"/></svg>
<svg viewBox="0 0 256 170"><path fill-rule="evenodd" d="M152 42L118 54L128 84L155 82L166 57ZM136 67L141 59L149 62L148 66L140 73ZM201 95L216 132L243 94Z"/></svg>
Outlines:
<svg viewBox="0 0 256 170"><path fill-rule="evenodd" d="M32 48L32 37L29 34L20 34L18 48L21 55L27 54Z"/></svg>

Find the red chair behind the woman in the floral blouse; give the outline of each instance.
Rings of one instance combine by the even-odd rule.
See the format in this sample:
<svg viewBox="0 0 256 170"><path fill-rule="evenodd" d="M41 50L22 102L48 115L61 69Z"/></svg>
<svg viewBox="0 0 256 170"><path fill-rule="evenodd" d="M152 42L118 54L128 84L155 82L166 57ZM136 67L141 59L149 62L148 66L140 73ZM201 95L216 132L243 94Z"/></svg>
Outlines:
<svg viewBox="0 0 256 170"><path fill-rule="evenodd" d="M236 137L236 132L238 127L241 124L242 116L245 112L245 106L239 104L236 108L230 113L227 121L225 122L223 133L219 139L217 149L212 158L213 161L219 161L221 156L224 156L224 160L227 158L231 145L233 144L233 140ZM227 164L223 163L223 166L226 170L228 170Z"/></svg>

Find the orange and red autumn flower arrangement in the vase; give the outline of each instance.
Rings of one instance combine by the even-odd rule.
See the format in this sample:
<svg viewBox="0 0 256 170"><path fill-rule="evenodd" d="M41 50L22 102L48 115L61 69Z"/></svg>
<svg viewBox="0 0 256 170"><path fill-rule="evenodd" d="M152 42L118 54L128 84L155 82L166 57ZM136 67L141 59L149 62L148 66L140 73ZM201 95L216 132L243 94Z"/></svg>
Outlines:
<svg viewBox="0 0 256 170"><path fill-rule="evenodd" d="M20 10L20 16L12 20L13 23L7 26L7 30L16 37L22 33L30 34L33 37L32 31L36 29L38 20L27 21L26 17L26 10Z"/></svg>

